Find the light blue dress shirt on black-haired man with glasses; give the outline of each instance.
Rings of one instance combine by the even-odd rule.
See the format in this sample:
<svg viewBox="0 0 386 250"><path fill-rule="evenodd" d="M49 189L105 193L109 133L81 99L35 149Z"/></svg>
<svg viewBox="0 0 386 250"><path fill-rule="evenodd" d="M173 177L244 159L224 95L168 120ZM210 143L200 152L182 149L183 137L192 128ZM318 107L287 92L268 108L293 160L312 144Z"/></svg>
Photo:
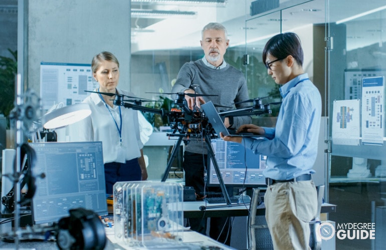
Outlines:
<svg viewBox="0 0 386 250"><path fill-rule="evenodd" d="M319 90L306 73L282 85L280 93L283 102L276 127L264 127L267 138L243 139L254 153L268 156L265 177L285 180L315 172L312 167L317 154L322 104Z"/></svg>

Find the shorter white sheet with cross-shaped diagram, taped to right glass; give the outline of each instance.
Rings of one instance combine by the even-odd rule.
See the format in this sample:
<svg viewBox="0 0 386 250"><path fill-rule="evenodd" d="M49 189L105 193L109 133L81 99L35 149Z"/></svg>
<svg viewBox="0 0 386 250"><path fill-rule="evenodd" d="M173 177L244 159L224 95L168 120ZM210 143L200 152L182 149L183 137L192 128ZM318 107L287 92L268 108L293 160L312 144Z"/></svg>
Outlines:
<svg viewBox="0 0 386 250"><path fill-rule="evenodd" d="M359 145L360 100L334 100L333 117L332 142Z"/></svg>

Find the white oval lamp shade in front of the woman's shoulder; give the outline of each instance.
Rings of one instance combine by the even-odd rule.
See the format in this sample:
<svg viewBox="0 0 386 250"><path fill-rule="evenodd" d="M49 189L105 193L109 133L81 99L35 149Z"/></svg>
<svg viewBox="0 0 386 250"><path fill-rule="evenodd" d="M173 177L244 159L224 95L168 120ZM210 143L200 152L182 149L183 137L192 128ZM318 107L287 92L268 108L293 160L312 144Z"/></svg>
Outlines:
<svg viewBox="0 0 386 250"><path fill-rule="evenodd" d="M90 114L91 109L87 103L77 103L46 113L42 117L42 123L47 129L59 128L82 120Z"/></svg>

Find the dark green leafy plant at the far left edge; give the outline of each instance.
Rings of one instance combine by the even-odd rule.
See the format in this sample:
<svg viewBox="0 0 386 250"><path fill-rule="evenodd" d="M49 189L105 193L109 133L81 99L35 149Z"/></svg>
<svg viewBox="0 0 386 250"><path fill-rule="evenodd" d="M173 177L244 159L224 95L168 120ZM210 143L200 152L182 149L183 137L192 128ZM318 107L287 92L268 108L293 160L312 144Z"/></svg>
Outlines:
<svg viewBox="0 0 386 250"><path fill-rule="evenodd" d="M15 76L18 71L18 52L8 49L13 57L0 56L0 113L7 117L9 127L9 115L15 101Z"/></svg>

